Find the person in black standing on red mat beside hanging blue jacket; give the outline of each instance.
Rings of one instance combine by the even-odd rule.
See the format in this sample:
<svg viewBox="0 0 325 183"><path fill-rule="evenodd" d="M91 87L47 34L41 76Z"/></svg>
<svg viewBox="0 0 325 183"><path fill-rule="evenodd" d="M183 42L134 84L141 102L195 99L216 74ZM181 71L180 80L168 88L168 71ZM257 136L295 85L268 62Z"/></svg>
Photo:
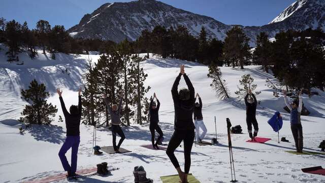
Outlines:
<svg viewBox="0 0 325 183"><path fill-rule="evenodd" d="M251 96L248 98L248 96ZM252 141L255 141L255 137L258 133L258 124L256 120L256 106L257 101L255 95L252 94L252 91L249 89L248 94L245 96L245 104L246 104L246 123L249 137ZM252 125L254 127L254 134L252 134Z"/></svg>

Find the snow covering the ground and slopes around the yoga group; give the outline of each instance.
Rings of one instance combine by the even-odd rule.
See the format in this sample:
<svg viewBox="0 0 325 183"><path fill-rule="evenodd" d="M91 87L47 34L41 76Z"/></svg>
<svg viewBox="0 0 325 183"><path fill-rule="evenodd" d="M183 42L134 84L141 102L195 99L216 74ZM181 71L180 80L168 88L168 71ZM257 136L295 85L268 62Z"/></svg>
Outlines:
<svg viewBox="0 0 325 183"><path fill-rule="evenodd" d="M4 47L2 47L4 48ZM4 48L5 49L5 48ZM96 61L100 55L89 55ZM33 126L19 134L17 123L23 102L20 99L20 89L28 87L29 82L36 78L44 82L51 94L50 102L58 107L58 115L62 115L56 87L63 89L63 99L67 106L77 104L77 89L82 86L81 75L84 73L88 55L56 54L56 60L44 56L41 52L36 59L29 59L26 53L19 55L24 65L19 66L6 62L5 51L0 51L0 182L23 182L35 180L63 172L58 158L58 150L65 138L64 123L56 122L51 126ZM324 166L325 156L293 155L285 150L294 150L294 139L289 127L289 114L282 107L283 97L273 97L272 90L265 84L266 78L275 79L272 75L261 71L259 66L247 66L244 70L222 67L223 79L228 82L232 99L219 101L210 87L211 79L207 77L206 66L177 59L160 59L152 57L142 64L148 73L147 85L152 89L148 97L156 93L160 99L160 126L167 142L173 134L174 109L171 97L171 86L179 73L179 65L186 66L185 72L191 79L196 92L203 101L203 117L208 129L206 137L210 141L214 135L214 116L217 118L218 145L194 146L192 148L192 163L190 173L201 182L229 182L229 150L226 138L225 118L229 117L233 126L241 125L244 134L233 134L233 153L235 158L236 178L239 182L325 182L324 176L306 174L301 168ZM68 73L64 72L68 69ZM62 72L63 71L63 72ZM251 74L255 79L257 95L260 104L257 107L256 118L259 125L259 136L272 138L265 144L247 143L248 138L245 122L245 105L235 99L238 81L243 74ZM185 86L183 78L179 88ZM325 129L325 93L320 96L303 96L305 106L311 111L310 116L302 116L304 145L307 150L318 151ZM286 137L290 143L277 143L277 134L267 124L267 120L279 110L284 118L280 137ZM57 125L57 126L55 126ZM140 145L150 144L150 132L147 124L123 127L126 139L123 148L132 153L94 156L92 154L92 133L90 126L80 126L81 143L78 153L78 168L93 167L101 162L119 167L107 177L90 176L84 182L133 182L133 168L144 166L147 177L154 182L161 182L160 176L176 174L164 150L150 150ZM112 145L111 132L99 128L97 144ZM179 147L175 153L183 169L183 149ZM67 155L70 157L70 151ZM70 159L70 158L68 158ZM70 160L69 160L70 161ZM59 182L66 182L61 180Z"/></svg>

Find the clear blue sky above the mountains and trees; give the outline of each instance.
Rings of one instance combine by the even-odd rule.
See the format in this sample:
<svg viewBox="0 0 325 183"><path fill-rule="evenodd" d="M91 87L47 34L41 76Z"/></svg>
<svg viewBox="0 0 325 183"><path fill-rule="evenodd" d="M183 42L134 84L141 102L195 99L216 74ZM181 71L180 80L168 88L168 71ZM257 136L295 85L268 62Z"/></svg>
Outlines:
<svg viewBox="0 0 325 183"><path fill-rule="evenodd" d="M19 22L29 28L44 19L51 25L66 29L78 24L86 13L92 13L105 3L130 2L120 0L1 0L0 17ZM225 24L264 25L273 20L296 0L160 0L193 13L210 16Z"/></svg>

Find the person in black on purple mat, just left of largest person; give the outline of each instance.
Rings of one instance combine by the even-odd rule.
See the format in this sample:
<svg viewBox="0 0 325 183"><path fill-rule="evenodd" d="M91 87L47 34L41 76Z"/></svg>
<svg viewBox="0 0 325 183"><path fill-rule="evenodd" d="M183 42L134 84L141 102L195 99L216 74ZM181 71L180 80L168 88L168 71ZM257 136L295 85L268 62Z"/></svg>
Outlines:
<svg viewBox="0 0 325 183"><path fill-rule="evenodd" d="M157 105L156 103L153 101L154 99L157 100ZM153 94L153 99L150 101L150 107L149 107L149 115L150 115L150 133L151 133L151 143L152 143L152 147L155 149L159 149L158 147L158 142L161 140L161 138L163 138L163 131L161 131L158 122L159 122L159 115L158 115L158 111L159 111L159 107L160 107L160 102L156 97L156 93ZM159 137L157 138L156 143L154 143L154 131L157 131L159 134Z"/></svg>

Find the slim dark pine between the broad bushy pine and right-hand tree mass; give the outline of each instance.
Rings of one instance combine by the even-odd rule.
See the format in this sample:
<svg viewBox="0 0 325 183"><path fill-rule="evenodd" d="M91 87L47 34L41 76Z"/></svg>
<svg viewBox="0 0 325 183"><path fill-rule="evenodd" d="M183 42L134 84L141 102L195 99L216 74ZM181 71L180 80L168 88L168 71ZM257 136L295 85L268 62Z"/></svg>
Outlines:
<svg viewBox="0 0 325 183"><path fill-rule="evenodd" d="M257 35L256 48L253 52L253 60L256 64L262 65L265 72L269 73L271 64L271 42L264 32Z"/></svg>

